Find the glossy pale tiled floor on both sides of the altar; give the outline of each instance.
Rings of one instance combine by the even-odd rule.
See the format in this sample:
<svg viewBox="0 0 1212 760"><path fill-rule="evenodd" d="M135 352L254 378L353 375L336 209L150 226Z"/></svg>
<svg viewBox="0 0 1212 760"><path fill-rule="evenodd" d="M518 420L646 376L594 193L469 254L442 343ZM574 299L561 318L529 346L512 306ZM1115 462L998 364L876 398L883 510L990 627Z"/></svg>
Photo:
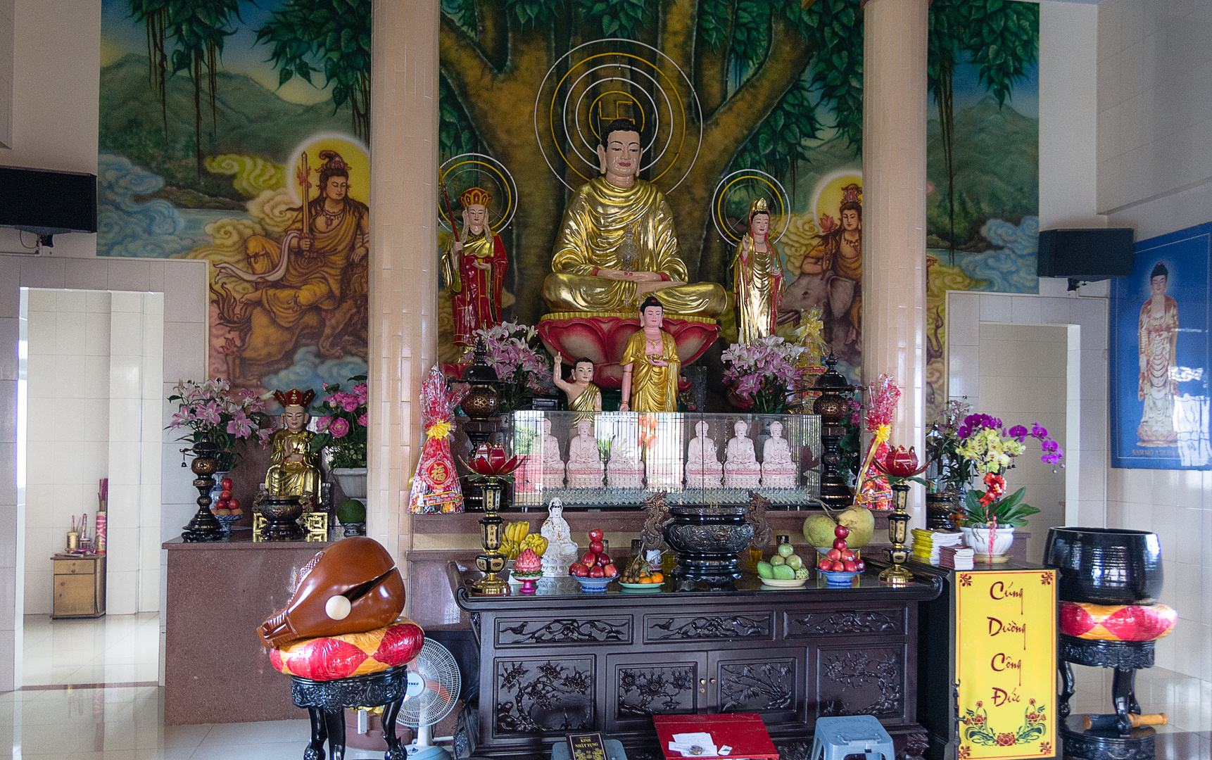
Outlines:
<svg viewBox="0 0 1212 760"><path fill-rule="evenodd" d="M0 693L0 747L10 742L13 760L298 760L303 755L305 720L165 726L162 687L96 686L155 682L159 648L155 615L55 622L27 617L25 688ZM1110 673L1075 672L1074 712L1110 712ZM1182 733L1178 747L1159 742L1157 760L1212 760L1212 684L1153 668L1140 672L1137 698L1143 712L1170 716L1162 732L1196 732ZM240 704L231 704L231 710L239 712ZM5 755L0 750L0 758ZM350 749L345 756L383 754Z"/></svg>

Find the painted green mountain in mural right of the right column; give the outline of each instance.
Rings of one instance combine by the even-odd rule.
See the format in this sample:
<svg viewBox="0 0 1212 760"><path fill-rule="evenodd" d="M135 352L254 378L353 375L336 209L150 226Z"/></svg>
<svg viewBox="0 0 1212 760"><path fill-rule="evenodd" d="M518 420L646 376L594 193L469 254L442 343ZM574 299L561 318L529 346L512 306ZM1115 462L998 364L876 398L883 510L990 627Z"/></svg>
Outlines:
<svg viewBox="0 0 1212 760"><path fill-rule="evenodd" d="M938 120L927 131L927 176L933 192L926 199L928 245L948 247L950 222L947 170ZM955 114L955 247L983 251L990 242L981 228L990 218L1018 223L1039 212L1039 120L1007 103L987 97Z"/></svg>

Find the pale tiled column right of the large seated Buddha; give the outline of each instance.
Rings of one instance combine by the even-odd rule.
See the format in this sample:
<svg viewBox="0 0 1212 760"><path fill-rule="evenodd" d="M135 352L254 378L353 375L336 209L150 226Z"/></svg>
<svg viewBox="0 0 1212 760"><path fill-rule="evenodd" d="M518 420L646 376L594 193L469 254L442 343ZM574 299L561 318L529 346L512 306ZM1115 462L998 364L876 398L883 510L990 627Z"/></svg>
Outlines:
<svg viewBox="0 0 1212 760"><path fill-rule="evenodd" d="M901 387L891 445L925 451L926 34L930 0L863 6L863 381ZM910 492L914 522L925 513Z"/></svg>

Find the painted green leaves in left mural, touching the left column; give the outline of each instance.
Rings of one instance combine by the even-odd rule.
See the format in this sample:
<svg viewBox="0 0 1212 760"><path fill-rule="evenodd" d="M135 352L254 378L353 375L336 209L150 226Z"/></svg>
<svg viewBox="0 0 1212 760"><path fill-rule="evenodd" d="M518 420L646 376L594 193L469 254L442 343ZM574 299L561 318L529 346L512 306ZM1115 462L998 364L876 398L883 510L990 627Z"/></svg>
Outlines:
<svg viewBox="0 0 1212 760"><path fill-rule="evenodd" d="M279 86L292 76L315 85L313 74L322 74L321 86L332 84L333 112L348 101L354 135L370 139L370 0L287 0L257 30L257 41L273 46Z"/></svg>

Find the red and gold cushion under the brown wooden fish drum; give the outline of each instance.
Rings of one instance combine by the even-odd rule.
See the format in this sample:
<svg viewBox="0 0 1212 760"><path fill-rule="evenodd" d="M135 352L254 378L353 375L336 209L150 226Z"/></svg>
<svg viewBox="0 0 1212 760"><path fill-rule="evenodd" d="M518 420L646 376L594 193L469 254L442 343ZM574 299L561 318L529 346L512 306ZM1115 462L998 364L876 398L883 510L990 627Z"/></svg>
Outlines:
<svg viewBox="0 0 1212 760"><path fill-rule="evenodd" d="M421 625L401 617L366 633L292 641L269 650L269 662L286 675L332 681L400 667L417 657L424 641Z"/></svg>

